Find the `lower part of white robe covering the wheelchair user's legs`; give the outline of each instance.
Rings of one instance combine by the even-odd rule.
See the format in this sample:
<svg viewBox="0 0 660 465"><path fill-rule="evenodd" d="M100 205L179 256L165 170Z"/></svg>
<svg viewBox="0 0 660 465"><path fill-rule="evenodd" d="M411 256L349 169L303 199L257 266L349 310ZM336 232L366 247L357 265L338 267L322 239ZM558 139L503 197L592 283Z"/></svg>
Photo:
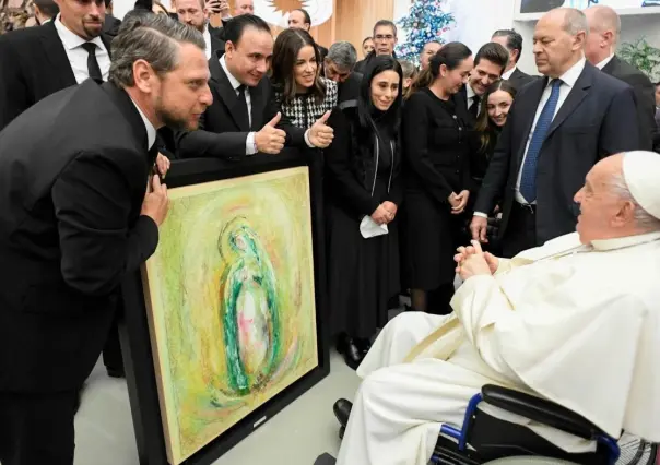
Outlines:
<svg viewBox="0 0 660 465"><path fill-rule="evenodd" d="M337 465L426 465L440 425L463 424L468 402L492 379L435 358L402 363L446 318L406 312L380 332L357 369L364 381Z"/></svg>

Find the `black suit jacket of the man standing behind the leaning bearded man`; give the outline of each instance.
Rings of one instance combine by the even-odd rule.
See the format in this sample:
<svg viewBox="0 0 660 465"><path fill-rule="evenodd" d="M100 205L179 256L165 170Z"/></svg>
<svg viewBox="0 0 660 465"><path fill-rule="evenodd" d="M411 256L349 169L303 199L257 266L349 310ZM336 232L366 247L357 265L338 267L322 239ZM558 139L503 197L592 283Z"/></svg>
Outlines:
<svg viewBox="0 0 660 465"><path fill-rule="evenodd" d="M0 36L0 130L42 98L76 84L55 21ZM111 38L101 38L109 52Z"/></svg>

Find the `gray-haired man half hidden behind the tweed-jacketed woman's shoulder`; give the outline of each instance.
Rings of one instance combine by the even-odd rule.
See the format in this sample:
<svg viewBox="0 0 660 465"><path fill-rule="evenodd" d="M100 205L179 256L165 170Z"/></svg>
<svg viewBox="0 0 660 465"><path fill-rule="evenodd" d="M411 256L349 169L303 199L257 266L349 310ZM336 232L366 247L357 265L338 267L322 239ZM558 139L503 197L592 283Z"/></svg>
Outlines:
<svg viewBox="0 0 660 465"><path fill-rule="evenodd" d="M338 41L328 50L323 60L326 78L339 84L339 102L356 99L362 74L355 72L357 51L349 41Z"/></svg>

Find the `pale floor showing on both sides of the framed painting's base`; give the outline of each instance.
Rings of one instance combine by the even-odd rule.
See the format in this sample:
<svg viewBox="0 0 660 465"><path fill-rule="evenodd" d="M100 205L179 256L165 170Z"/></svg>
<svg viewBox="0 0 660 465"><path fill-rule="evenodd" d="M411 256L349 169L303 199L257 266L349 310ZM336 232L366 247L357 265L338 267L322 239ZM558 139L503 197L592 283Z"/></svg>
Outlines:
<svg viewBox="0 0 660 465"><path fill-rule="evenodd" d="M360 379L331 353L330 374L271 418L214 465L313 465L323 452L337 456L332 404L353 398ZM138 465L126 381L94 369L75 418L75 465Z"/></svg>

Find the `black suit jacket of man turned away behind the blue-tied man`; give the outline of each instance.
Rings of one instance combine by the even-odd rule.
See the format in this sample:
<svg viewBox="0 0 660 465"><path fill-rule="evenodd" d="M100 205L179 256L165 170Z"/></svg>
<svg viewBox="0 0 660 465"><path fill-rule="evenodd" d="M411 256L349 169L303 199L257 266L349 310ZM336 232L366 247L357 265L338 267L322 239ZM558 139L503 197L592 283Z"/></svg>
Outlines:
<svg viewBox="0 0 660 465"><path fill-rule="evenodd" d="M639 147L645 151L652 150L653 139L658 128L656 126L656 88L651 81L637 68L614 56L602 71L616 78L635 91L637 104L637 118L639 120Z"/></svg>

